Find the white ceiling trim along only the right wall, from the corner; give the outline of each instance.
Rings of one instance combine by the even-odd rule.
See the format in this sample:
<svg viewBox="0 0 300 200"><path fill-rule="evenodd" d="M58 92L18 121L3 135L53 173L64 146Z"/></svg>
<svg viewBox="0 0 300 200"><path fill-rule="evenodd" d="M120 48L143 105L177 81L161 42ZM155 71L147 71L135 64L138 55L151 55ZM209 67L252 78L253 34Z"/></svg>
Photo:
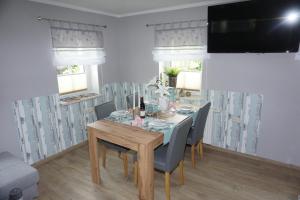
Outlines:
<svg viewBox="0 0 300 200"><path fill-rule="evenodd" d="M200 6L210 6L210 5L218 5L218 4L225 4L225 3L233 3L233 2L240 2L241 0L207 0L198 3L191 3L191 4L183 4L179 6L170 6L165 8L159 9L152 9L152 10L145 10L140 12L133 12L133 13L126 13L123 15L118 15L118 17L129 17L135 15L144 15L144 14L151 14L151 13L158 13L158 12L166 12L172 10L181 10L185 8L193 8L193 7L200 7Z"/></svg>

